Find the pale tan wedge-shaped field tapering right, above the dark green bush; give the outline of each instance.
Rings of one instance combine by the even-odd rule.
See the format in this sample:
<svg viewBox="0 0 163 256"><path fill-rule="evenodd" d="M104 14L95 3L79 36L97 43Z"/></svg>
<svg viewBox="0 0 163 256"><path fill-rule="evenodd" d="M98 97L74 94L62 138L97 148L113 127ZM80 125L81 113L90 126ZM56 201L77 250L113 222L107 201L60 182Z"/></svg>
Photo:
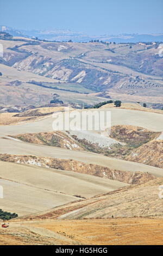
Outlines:
<svg viewBox="0 0 163 256"><path fill-rule="evenodd" d="M0 161L0 169L0 185L4 190L1 208L18 215L51 209L80 197L88 198L127 186L123 182L86 174L10 162Z"/></svg>

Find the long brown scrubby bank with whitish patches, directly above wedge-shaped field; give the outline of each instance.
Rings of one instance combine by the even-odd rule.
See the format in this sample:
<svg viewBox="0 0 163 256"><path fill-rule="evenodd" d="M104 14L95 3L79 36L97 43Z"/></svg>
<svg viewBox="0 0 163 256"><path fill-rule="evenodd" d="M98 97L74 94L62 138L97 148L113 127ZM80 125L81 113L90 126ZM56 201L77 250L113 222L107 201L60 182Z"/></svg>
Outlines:
<svg viewBox="0 0 163 256"><path fill-rule="evenodd" d="M18 162L22 164L33 164L36 166L42 166L46 168L53 168L59 170L68 170L73 173L83 173L100 178L105 178L117 182L117 187L124 186L127 184L141 184L149 180L153 180L156 177L149 173L143 172L129 172L113 170L108 167L98 166L96 164L85 164L84 162L74 161L74 160L64 160L64 159L54 159L51 157L36 157L36 156L22 156L22 155L8 155L0 154L0 160L5 162ZM89 179L89 177L87 177ZM114 185L114 183L112 184ZM115 187L116 188L116 182ZM108 184L109 189L109 184Z"/></svg>

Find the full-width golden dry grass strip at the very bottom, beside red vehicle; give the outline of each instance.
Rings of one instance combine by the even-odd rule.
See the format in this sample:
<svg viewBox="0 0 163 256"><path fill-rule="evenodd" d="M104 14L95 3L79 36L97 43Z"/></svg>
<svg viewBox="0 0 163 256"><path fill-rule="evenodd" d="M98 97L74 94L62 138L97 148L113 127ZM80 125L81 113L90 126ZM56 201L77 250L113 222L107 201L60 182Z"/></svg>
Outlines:
<svg viewBox="0 0 163 256"><path fill-rule="evenodd" d="M163 220L120 218L11 222L1 245L161 245Z"/></svg>

